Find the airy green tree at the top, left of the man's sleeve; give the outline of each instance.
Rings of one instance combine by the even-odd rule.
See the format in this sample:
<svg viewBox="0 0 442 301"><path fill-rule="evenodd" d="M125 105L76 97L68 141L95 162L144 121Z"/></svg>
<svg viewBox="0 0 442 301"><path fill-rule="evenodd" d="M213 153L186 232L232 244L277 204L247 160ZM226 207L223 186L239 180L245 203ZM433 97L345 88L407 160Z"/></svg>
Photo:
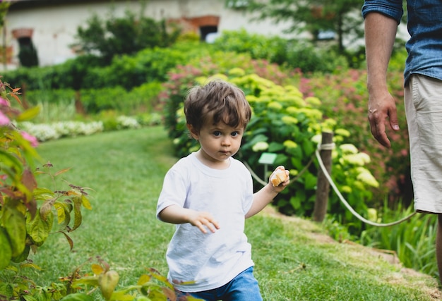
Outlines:
<svg viewBox="0 0 442 301"><path fill-rule="evenodd" d="M257 12L259 19L288 21L291 25L285 32L307 31L315 42L321 32L334 32L340 53L345 51L344 37L352 41L364 33L360 0L226 0L226 3L229 7Z"/></svg>

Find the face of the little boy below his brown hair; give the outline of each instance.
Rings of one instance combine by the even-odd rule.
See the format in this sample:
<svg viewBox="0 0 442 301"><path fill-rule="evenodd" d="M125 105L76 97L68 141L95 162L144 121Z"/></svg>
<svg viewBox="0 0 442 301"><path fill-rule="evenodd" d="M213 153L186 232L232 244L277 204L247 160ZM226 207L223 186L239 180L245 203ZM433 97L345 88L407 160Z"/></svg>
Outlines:
<svg viewBox="0 0 442 301"><path fill-rule="evenodd" d="M244 135L244 127L232 128L223 122L205 124L199 133L191 125L188 127L192 137L200 142L202 159L215 168L225 166L226 160L238 152Z"/></svg>

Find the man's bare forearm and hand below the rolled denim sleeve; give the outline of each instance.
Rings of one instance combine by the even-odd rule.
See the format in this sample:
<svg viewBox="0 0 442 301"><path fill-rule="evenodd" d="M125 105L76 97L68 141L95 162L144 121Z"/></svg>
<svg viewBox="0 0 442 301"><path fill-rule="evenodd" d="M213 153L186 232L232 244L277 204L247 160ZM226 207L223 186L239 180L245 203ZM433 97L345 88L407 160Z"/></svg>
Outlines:
<svg viewBox="0 0 442 301"><path fill-rule="evenodd" d="M381 13L365 18L367 89L369 91L369 122L371 134L381 145L390 147L386 120L390 128L399 130L395 99L388 92L387 68L395 42L398 23Z"/></svg>

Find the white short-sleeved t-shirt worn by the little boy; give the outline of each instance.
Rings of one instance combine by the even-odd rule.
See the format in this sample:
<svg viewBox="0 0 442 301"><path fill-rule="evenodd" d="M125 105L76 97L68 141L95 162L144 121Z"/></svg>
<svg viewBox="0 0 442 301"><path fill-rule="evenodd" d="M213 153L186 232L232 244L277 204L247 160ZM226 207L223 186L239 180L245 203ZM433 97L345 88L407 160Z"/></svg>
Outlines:
<svg viewBox="0 0 442 301"><path fill-rule="evenodd" d="M182 292L219 288L253 266L251 245L244 234L244 216L253 202L253 181L241 161L229 161L229 168L213 169L192 153L165 176L157 216L175 204L207 211L220 225L215 233L206 234L190 223L176 226L166 258L169 281Z"/></svg>

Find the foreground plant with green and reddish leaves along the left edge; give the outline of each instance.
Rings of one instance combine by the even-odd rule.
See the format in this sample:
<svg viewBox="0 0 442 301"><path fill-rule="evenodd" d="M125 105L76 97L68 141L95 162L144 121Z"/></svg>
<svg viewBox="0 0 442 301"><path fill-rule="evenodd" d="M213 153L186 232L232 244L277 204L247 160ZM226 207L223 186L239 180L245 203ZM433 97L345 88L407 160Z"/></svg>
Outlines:
<svg viewBox="0 0 442 301"><path fill-rule="evenodd" d="M81 224L81 208L91 209L88 193L67 183L67 190L52 191L37 186L37 176L55 177L68 169L51 173L52 164L35 168L40 157L37 140L16 127L15 123L34 117L38 108L14 109L10 97L18 103L18 88L0 82L0 295L7 300L20 299L23 292L35 290L26 277L8 277L17 266L32 266L26 262L30 251L36 252L49 233L64 234L71 248L69 233Z"/></svg>

